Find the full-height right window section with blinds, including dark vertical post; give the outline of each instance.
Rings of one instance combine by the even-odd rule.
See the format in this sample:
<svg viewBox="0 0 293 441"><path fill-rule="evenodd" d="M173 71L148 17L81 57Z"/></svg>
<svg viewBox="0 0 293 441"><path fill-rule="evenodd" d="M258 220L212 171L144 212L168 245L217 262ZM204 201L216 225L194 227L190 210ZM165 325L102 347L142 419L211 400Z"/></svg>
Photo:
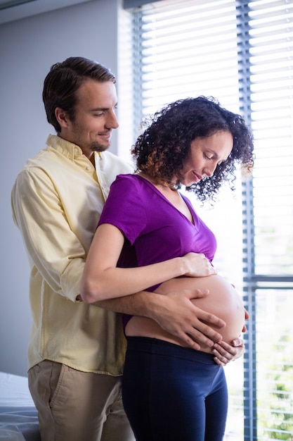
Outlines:
<svg viewBox="0 0 293 441"><path fill-rule="evenodd" d="M244 187L245 300L251 315L245 440L291 440L293 3L249 1L247 11L238 12L247 29L247 117L256 146L252 185Z"/></svg>

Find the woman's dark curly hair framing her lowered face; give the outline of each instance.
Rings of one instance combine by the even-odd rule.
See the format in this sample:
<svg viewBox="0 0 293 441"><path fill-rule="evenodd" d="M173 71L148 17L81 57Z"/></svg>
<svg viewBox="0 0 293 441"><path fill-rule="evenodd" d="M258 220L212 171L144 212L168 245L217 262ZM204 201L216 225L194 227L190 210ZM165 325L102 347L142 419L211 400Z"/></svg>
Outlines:
<svg viewBox="0 0 293 441"><path fill-rule="evenodd" d="M197 182L187 190L195 192L204 202L214 200L223 182L228 181L233 190L235 164L250 172L254 165L252 132L237 113L220 106L213 97L187 98L174 101L146 119L148 125L132 146L136 171L143 171L159 183L174 187L174 176L180 175L190 145L197 137L209 137L215 132L227 131L233 135L233 149L228 159L214 170L214 175ZM176 182L176 188L181 183Z"/></svg>

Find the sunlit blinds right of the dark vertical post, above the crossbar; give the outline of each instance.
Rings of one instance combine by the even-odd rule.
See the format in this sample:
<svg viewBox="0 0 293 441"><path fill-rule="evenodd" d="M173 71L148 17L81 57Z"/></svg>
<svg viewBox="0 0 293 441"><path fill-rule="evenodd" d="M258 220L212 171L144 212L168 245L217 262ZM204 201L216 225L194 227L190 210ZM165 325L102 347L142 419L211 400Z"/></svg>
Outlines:
<svg viewBox="0 0 293 441"><path fill-rule="evenodd" d="M293 273L293 2L249 4L255 272Z"/></svg>

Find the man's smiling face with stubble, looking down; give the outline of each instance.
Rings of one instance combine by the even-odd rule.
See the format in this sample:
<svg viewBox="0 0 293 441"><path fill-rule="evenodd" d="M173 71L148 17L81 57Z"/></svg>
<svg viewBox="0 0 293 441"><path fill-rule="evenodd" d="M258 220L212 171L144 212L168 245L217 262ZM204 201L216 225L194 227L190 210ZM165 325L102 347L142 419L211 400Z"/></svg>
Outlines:
<svg viewBox="0 0 293 441"><path fill-rule="evenodd" d="M90 158L93 151L110 147L112 129L118 127L116 107L117 94L112 81L87 80L77 91L74 120L66 118L67 124L58 135L78 145Z"/></svg>

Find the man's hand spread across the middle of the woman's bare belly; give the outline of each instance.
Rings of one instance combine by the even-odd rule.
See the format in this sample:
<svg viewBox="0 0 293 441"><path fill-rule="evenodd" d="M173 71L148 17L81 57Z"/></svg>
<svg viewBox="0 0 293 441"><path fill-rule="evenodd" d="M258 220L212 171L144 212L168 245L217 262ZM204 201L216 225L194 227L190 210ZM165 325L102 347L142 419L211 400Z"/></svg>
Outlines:
<svg viewBox="0 0 293 441"><path fill-rule="evenodd" d="M199 350L202 344L213 347L222 336L210 325L221 329L226 323L190 302L206 295L208 290L184 290L162 295L159 308L152 311L151 318L190 348Z"/></svg>

